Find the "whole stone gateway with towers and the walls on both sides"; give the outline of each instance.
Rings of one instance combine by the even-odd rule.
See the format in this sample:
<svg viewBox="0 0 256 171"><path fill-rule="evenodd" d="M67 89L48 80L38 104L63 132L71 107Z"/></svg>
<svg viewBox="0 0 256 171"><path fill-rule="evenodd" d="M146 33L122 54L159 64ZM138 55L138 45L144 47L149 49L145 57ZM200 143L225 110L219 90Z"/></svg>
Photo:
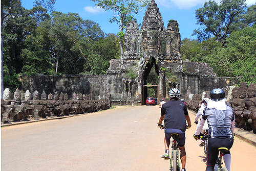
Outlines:
<svg viewBox="0 0 256 171"><path fill-rule="evenodd" d="M136 21L127 23L120 59L112 59L106 75L20 76L22 92L90 94L93 99L111 94L114 105L144 105L147 79L153 68L158 75L158 101L168 99L168 90L176 87L181 95L202 93L213 88L234 85L237 80L220 78L206 63L182 61L180 33L176 20L164 28L154 0L147 8L141 28Z"/></svg>

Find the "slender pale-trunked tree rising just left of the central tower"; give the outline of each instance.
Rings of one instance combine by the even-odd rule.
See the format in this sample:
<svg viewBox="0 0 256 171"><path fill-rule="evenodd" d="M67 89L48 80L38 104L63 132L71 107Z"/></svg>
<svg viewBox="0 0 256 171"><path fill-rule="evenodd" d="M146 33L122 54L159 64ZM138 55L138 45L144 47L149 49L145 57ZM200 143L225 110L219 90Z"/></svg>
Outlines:
<svg viewBox="0 0 256 171"><path fill-rule="evenodd" d="M133 20L132 14L137 14L144 7L148 6L150 0L91 0L98 2L96 6L105 10L113 10L113 18L110 22L117 22L119 25L120 53L123 54L123 29L126 23Z"/></svg>

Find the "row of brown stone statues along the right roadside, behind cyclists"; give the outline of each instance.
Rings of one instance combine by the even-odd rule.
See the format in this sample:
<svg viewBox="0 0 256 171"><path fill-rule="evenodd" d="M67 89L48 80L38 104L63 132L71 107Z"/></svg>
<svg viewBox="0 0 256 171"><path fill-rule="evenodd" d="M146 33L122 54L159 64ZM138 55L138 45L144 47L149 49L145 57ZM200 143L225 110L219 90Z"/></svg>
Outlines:
<svg viewBox="0 0 256 171"><path fill-rule="evenodd" d="M240 87L227 86L222 89L225 91L227 104L234 110L236 127L247 131L252 130L256 134L256 84L252 83L247 88L247 83L241 83ZM185 96L188 109L197 112L202 99L209 97L209 94L210 91L203 91L200 94L191 94L188 91Z"/></svg>

